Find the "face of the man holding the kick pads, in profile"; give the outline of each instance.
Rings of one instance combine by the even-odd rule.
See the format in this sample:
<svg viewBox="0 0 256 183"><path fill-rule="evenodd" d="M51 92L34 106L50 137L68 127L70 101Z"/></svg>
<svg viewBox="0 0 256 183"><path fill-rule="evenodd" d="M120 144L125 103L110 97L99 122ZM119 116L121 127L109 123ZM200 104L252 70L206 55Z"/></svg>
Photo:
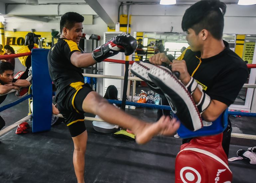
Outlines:
<svg viewBox="0 0 256 183"><path fill-rule="evenodd" d="M202 45L199 39L199 34L196 35L193 29L188 29L186 40L188 41L188 44L190 45L192 51L200 51Z"/></svg>

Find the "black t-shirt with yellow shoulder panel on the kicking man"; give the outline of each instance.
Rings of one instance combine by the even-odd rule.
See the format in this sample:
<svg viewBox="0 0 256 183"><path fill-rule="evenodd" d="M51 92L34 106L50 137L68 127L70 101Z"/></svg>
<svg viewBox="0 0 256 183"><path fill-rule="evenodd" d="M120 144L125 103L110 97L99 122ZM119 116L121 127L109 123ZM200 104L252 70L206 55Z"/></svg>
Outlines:
<svg viewBox="0 0 256 183"><path fill-rule="evenodd" d="M72 53L76 51L83 53L74 41L60 38L48 53L48 68L50 77L57 88L56 97L69 84L84 83L81 68L75 67L70 61Z"/></svg>

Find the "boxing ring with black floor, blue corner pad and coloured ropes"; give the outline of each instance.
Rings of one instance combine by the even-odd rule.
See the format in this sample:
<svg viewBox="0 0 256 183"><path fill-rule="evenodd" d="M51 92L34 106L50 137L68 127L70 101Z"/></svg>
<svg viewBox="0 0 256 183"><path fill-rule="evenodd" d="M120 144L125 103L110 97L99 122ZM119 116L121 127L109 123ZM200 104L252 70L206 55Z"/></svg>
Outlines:
<svg viewBox="0 0 256 183"><path fill-rule="evenodd" d="M52 116L52 82L47 66L48 50L32 50L33 86L32 94L6 106L0 107L0 112L27 100L33 96L32 132L16 135L14 128L23 121L32 118L32 114L17 121L0 131L0 182L75 182L76 177L72 164L73 143L69 132L62 123L51 127ZM30 54L30 53L27 53ZM20 56L19 54L15 57ZM114 61L125 63L125 61ZM129 64L133 62L130 61ZM255 64L249 67L256 68ZM40 72L39 72L40 71ZM122 79L122 76L106 76L83 74L87 77ZM127 77L127 80L141 81L137 77ZM245 84L245 88L255 88L256 85ZM109 100L109 103L121 104L122 101ZM143 120L154 122L156 110L171 110L170 106L143 104L126 101L126 105L139 108L128 109L131 115ZM145 108L148 108L147 111ZM139 110L139 113L136 112ZM139 115L138 115L139 114ZM229 115L256 117L256 113L228 111ZM62 115L57 115L61 117ZM146 145L137 145L133 141L115 139L109 134L96 133L90 121L102 121L87 114L85 125L88 131L87 152L85 155L85 181L87 182L140 182L165 183L174 182L175 157L179 152L181 139L157 136ZM232 122L232 121L231 121ZM247 144L255 144L255 135L234 134L236 145L231 142L231 152L242 149ZM231 138L232 139L232 138ZM232 141L232 140L231 140ZM251 145L250 145L251 146ZM254 146L254 145L252 145ZM242 161L229 162L233 172L233 182L250 182L255 180L255 169ZM242 172L242 173L241 173ZM252 177L252 175L254 177Z"/></svg>

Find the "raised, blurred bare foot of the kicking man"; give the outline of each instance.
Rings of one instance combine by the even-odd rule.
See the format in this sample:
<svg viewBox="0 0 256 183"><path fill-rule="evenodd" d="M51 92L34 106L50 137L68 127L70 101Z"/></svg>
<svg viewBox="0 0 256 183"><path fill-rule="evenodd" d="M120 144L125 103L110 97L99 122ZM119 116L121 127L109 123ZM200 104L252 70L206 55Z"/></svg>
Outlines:
<svg viewBox="0 0 256 183"><path fill-rule="evenodd" d="M156 135L173 135L180 127L180 122L169 116L162 116L156 123L144 123L139 128L134 130L136 134L136 142L145 144Z"/></svg>

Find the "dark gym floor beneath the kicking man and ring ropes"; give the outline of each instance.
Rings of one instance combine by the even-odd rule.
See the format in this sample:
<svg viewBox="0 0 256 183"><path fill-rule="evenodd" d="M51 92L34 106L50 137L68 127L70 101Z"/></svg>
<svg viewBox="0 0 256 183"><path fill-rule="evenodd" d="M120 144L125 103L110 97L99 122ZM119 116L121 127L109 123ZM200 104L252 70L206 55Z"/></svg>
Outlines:
<svg viewBox="0 0 256 183"><path fill-rule="evenodd" d="M17 100L8 94L1 106ZM156 109L127 109L129 114L154 122ZM28 114L28 100L0 113L6 126ZM91 116L91 114L86 114ZM233 133L256 135L256 118L232 117ZM31 125L31 122L29 122ZM146 145L117 139L111 134L93 130L86 121L88 131L85 155L85 181L88 183L170 183L174 182L175 157L181 139L158 136ZM0 137L1 183L76 182L72 163L73 143L67 127L61 123L51 131L16 135L15 130ZM229 157L239 149L255 146L255 140L231 138ZM229 162L233 183L252 183L256 179L256 166L243 160Z"/></svg>

